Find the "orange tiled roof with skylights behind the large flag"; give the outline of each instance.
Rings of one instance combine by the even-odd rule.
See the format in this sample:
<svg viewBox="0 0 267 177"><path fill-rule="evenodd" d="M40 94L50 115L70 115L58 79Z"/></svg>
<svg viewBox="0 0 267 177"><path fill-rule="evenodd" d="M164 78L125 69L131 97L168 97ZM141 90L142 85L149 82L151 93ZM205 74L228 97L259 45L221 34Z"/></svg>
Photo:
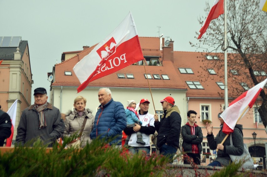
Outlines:
<svg viewBox="0 0 267 177"><path fill-rule="evenodd" d="M180 52L174 51L174 63L170 59L163 58L163 50L160 48L160 40L156 37L139 37L142 52L144 56L160 57L163 66L145 66L148 74L167 74L170 80L149 79L151 88L169 88L169 89L188 89L187 97L215 97L219 98L224 95L224 90L220 89L216 82L224 83L223 53L209 53L208 55L217 55L219 60L207 60L206 53L199 52ZM97 44L96 44L97 45ZM55 65L55 82L52 86L79 86L80 82L73 72L72 68L83 57L92 51L96 46L92 46L67 61ZM217 62L217 63L214 63ZM191 68L194 74L182 74L178 68ZM216 74L209 74L207 69L212 68ZM228 68L229 70L229 68ZM71 71L72 76L64 74L64 71ZM244 71L245 72L245 71ZM123 73L125 78L118 78L117 73ZM133 74L134 79L127 78L127 74ZM147 79L144 77L144 66L130 65L119 70L116 73L99 78L91 83L89 87L135 87L148 88ZM233 82L235 79L243 79L241 75L229 74L228 71L228 93L234 94L233 88L242 88L240 84ZM199 81L204 89L190 89L186 81Z"/></svg>

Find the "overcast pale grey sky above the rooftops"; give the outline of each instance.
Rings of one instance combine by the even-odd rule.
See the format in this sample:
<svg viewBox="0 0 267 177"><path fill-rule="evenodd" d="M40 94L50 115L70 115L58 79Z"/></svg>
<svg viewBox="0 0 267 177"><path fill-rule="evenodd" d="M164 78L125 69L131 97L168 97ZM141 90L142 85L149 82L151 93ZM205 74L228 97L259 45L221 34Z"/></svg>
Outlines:
<svg viewBox="0 0 267 177"><path fill-rule="evenodd" d="M37 87L49 92L47 73L61 54L100 42L129 11L139 36L159 37L160 29L165 40L175 41L175 51L196 51L189 41L196 42L197 19L206 16L206 2L212 6L214 0L1 0L0 36L28 41L32 93Z"/></svg>

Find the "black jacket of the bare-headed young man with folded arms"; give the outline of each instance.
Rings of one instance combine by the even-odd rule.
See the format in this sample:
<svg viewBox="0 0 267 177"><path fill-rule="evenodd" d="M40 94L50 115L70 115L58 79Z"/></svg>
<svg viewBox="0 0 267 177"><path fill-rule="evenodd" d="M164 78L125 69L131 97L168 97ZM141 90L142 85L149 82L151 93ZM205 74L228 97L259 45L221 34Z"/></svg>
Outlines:
<svg viewBox="0 0 267 177"><path fill-rule="evenodd" d="M199 126L195 127L195 135L191 134L191 127L189 125L182 126L181 134L183 137L182 148L184 152L192 152L192 144L197 144L199 154L202 151L203 134Z"/></svg>

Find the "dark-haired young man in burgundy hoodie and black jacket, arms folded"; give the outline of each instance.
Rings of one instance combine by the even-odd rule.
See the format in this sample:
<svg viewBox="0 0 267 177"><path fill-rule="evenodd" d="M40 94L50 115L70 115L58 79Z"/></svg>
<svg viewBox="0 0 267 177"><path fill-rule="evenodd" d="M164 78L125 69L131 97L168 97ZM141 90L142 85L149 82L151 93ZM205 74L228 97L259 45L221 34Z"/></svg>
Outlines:
<svg viewBox="0 0 267 177"><path fill-rule="evenodd" d="M188 122L182 126L181 129L183 137L182 148L183 152L185 152L184 164L191 164L191 162L194 162L195 164L200 165L203 134L201 128L195 123L196 114L196 111L188 111Z"/></svg>

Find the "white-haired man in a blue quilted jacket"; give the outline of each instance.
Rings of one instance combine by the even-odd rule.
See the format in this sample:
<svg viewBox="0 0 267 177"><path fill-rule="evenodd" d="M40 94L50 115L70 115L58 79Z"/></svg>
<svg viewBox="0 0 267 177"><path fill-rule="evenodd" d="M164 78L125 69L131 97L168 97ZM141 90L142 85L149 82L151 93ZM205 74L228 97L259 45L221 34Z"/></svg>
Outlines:
<svg viewBox="0 0 267 177"><path fill-rule="evenodd" d="M126 127L126 114L120 102L113 101L111 91L108 88L99 89L98 100L101 104L95 116L91 139L110 138L118 135L111 144L121 147L122 131Z"/></svg>

